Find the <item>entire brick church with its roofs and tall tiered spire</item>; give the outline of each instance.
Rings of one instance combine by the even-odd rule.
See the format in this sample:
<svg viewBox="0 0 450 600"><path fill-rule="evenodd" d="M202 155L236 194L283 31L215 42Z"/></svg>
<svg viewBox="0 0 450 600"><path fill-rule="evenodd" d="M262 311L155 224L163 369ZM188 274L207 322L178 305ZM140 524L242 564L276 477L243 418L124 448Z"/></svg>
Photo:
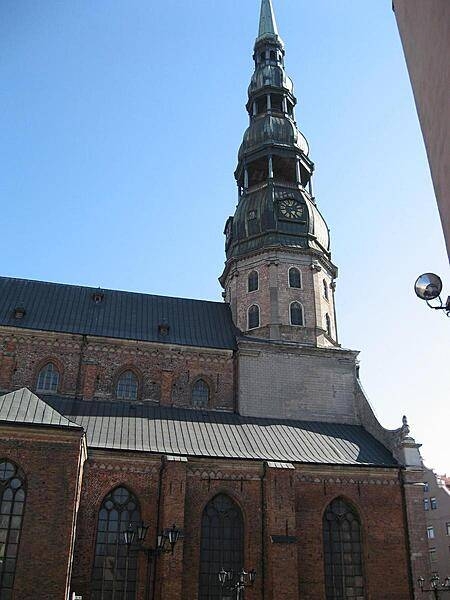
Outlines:
<svg viewBox="0 0 450 600"><path fill-rule="evenodd" d="M2 600L219 600L243 569L248 600L421 597L419 446L339 344L270 0L254 61L225 302L0 278Z"/></svg>

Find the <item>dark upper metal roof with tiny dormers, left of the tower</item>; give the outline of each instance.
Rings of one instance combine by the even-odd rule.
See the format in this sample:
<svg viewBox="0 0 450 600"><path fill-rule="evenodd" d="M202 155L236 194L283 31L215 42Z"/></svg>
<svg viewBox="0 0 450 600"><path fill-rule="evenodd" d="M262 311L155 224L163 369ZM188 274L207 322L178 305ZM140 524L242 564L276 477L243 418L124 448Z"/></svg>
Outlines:
<svg viewBox="0 0 450 600"><path fill-rule="evenodd" d="M0 325L223 349L234 349L236 335L223 302L11 277L0 277Z"/></svg>

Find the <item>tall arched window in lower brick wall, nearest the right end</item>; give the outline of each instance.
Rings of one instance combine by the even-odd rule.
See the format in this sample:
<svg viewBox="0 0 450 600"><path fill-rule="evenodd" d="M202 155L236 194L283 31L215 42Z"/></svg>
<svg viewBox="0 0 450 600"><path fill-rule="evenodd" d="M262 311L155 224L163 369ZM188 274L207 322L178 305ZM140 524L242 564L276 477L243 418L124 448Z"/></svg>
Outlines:
<svg viewBox="0 0 450 600"><path fill-rule="evenodd" d="M326 600L363 600L361 523L342 498L329 504L323 517Z"/></svg>

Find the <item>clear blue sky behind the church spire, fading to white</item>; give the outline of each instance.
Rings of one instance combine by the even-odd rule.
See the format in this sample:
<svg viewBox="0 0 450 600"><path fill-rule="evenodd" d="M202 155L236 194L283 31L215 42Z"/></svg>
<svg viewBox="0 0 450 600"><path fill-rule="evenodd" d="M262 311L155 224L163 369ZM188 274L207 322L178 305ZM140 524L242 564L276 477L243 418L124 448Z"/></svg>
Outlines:
<svg viewBox="0 0 450 600"><path fill-rule="evenodd" d="M340 267L340 340L383 425L450 471L450 287L391 0L274 0ZM3 275L220 299L259 0L2 0ZM450 289L449 289L450 291Z"/></svg>

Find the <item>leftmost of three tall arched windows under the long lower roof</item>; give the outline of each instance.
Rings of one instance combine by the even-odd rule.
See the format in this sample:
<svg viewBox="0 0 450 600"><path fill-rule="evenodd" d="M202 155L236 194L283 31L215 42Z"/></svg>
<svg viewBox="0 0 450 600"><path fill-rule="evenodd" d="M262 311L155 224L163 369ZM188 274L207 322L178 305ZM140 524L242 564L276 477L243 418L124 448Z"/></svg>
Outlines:
<svg viewBox="0 0 450 600"><path fill-rule="evenodd" d="M98 513L91 600L135 600L137 552L124 543L124 531L141 522L139 505L125 487L117 487Z"/></svg>

